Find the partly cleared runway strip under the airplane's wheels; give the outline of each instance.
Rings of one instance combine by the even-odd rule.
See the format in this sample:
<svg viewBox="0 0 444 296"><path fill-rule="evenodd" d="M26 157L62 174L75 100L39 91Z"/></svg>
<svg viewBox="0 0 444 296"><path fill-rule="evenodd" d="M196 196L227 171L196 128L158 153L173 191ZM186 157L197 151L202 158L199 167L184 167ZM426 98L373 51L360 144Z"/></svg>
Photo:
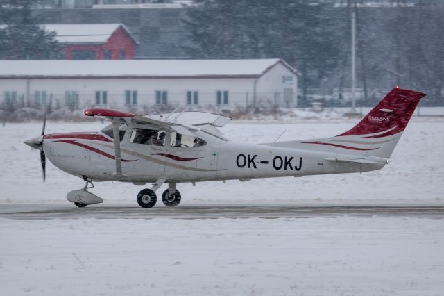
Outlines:
<svg viewBox="0 0 444 296"><path fill-rule="evenodd" d="M444 206L139 206L73 204L0 205L0 218L18 220L52 219L217 219L217 218L310 218L310 217L422 217L443 219Z"/></svg>

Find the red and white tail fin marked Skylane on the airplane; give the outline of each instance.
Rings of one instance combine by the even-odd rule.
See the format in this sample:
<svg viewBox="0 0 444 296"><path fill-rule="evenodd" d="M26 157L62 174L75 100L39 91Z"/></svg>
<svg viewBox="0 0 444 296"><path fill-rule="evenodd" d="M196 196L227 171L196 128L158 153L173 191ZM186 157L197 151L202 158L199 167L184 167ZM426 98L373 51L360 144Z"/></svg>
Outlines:
<svg viewBox="0 0 444 296"><path fill-rule="evenodd" d="M356 126L345 133L332 138L276 144L335 154L389 158L424 96L422 92L394 88Z"/></svg>

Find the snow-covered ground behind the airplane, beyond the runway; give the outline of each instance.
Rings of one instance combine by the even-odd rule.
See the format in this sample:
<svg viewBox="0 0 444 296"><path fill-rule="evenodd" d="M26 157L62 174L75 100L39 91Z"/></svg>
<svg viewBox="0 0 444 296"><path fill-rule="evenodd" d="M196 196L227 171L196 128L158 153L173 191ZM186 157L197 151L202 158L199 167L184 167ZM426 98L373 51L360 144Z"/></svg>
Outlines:
<svg viewBox="0 0 444 296"><path fill-rule="evenodd" d="M298 119L294 119L298 120ZM359 119L326 122L262 124L232 122L223 132L232 140L273 142L337 135ZM104 124L48 122L46 133L97 131ZM47 162L42 183L40 155L22 142L39 135L41 123L0 126L0 204L66 203L65 195L81 188L83 181L61 172ZM302 178L255 179L178 185L182 204L440 204L444 205L444 117L413 117L382 170L364 174L303 176ZM95 183L92 192L107 204L135 204L139 190L147 186ZM148 184L148 187L151 186ZM164 190L163 186L159 192ZM100 206L100 205L99 205ZM163 206L159 204L157 206Z"/></svg>

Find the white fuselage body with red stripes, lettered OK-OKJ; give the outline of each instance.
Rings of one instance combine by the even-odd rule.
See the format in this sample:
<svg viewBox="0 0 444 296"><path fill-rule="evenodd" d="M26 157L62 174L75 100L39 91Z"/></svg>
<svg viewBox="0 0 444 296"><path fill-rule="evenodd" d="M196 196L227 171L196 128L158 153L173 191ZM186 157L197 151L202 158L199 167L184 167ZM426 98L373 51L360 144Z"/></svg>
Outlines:
<svg viewBox="0 0 444 296"><path fill-rule="evenodd" d="M128 131L137 128L128 126ZM146 126L144 126L146 127ZM232 142L196 131L205 140L200 147L146 145L130 142L126 132L120 142L121 175L116 174L114 140L103 133L62 133L45 135L43 149L51 163L76 176L94 181L166 183L248 180L279 176L304 176L379 170L384 165L325 161L336 154L269 144ZM309 146L309 145L308 145Z"/></svg>

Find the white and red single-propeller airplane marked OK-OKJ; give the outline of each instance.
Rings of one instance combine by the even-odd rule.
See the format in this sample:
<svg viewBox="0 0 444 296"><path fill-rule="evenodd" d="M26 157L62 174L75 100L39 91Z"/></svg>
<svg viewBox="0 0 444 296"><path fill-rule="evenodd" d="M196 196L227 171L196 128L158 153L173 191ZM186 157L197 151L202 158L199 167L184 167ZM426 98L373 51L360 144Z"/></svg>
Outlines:
<svg viewBox="0 0 444 296"><path fill-rule="evenodd" d="M142 208L157 202L164 183L165 206L178 206L176 184L283 176L341 174L379 170L388 163L402 132L425 94L394 88L352 129L331 138L248 144L225 138L218 129L231 119L223 115L178 109L142 116L92 108L87 116L110 124L93 133L42 134L25 141L40 149L43 179L46 156L60 170L85 181L67 194L78 207L103 199L87 189L93 181L153 183L137 194Z"/></svg>

